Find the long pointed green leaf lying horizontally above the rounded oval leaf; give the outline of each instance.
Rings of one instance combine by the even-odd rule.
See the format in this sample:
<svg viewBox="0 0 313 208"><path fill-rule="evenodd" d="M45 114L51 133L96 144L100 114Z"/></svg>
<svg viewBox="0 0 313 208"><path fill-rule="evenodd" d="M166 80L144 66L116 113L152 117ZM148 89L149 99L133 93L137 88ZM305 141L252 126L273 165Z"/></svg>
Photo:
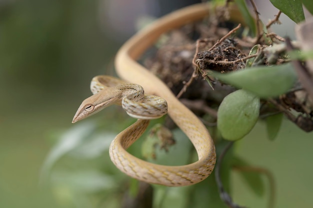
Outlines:
<svg viewBox="0 0 313 208"><path fill-rule="evenodd" d="M220 81L242 88L261 97L276 97L287 92L296 81L296 73L290 63L274 66L257 66L221 74L209 71Z"/></svg>

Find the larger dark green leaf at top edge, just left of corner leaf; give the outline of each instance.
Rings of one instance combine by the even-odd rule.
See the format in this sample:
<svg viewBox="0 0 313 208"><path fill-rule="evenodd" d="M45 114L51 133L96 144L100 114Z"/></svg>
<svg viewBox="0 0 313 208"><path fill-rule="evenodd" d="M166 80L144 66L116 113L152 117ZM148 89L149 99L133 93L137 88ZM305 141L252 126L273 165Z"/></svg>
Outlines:
<svg viewBox="0 0 313 208"><path fill-rule="evenodd" d="M295 23L305 19L301 0L270 0L270 2Z"/></svg>

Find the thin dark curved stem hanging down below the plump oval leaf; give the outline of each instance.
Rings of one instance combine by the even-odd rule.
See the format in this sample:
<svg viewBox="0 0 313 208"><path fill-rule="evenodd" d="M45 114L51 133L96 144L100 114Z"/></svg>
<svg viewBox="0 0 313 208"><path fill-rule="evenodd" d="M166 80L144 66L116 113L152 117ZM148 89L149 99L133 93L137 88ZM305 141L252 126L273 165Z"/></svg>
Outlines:
<svg viewBox="0 0 313 208"><path fill-rule="evenodd" d="M218 192L219 192L219 197L220 199L229 207L229 208L243 208L239 205L236 205L232 202L231 197L228 195L228 193L224 190L223 184L220 180L220 166L221 166L221 162L225 156L225 154L227 153L227 151L230 149L230 147L233 145L233 142L229 142L225 149L222 151L222 153L220 154L216 166L215 166L215 181L218 187Z"/></svg>

